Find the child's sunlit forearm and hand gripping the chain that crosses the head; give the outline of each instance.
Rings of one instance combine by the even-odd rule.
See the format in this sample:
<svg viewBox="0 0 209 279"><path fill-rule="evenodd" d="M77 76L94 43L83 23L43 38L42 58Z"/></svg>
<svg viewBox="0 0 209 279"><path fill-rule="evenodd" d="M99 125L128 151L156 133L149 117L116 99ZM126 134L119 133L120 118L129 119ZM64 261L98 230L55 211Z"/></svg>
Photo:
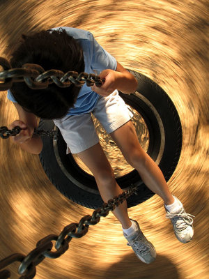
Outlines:
<svg viewBox="0 0 209 279"><path fill-rule="evenodd" d="M100 77L105 79L104 84L101 87L94 85L91 89L101 96L108 96L116 89L127 94L134 93L137 89L136 78L118 62L116 71L110 69L102 70Z"/></svg>

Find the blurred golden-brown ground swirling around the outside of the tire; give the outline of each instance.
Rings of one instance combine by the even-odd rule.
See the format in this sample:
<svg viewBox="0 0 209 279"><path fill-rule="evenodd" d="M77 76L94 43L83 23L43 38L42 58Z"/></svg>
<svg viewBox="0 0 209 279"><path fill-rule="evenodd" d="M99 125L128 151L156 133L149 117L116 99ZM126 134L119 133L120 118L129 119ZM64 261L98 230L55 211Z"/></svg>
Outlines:
<svg viewBox="0 0 209 279"><path fill-rule="evenodd" d="M183 125L180 162L169 188L194 219L194 240L179 243L156 195L129 209L157 250L146 265L126 246L110 213L82 239L72 239L59 259L45 259L36 278L207 279L209 2L177 0L0 1L0 54L9 57L22 33L68 26L86 29L126 68L152 78L169 94ZM0 95L0 126L17 119ZM27 254L48 234L91 213L63 197L49 182L38 156L0 140L0 259ZM12 278L18 264L10 266Z"/></svg>

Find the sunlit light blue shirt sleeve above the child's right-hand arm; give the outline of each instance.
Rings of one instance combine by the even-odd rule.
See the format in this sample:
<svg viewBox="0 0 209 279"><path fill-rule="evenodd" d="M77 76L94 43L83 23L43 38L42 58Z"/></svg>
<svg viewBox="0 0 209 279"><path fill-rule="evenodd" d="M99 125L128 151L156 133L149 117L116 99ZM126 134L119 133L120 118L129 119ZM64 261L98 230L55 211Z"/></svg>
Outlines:
<svg viewBox="0 0 209 279"><path fill-rule="evenodd" d="M111 56L109 52L95 40L93 34L89 32L91 47L92 47L92 59L91 68L96 71L97 74L101 73L102 70L111 69L116 70L117 61L114 56Z"/></svg>

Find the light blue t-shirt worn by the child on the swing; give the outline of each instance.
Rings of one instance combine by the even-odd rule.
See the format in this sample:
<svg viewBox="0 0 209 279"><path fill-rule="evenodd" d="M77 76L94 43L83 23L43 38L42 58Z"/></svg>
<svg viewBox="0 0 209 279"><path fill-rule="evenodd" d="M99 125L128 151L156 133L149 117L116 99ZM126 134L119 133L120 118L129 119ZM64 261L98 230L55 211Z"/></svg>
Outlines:
<svg viewBox="0 0 209 279"><path fill-rule="evenodd" d="M98 42L93 38L93 34L89 31L72 27L56 27L52 30L59 28L65 29L66 33L75 38L82 46L84 52L85 73L94 73L99 75L102 70L111 69L116 70L117 61L106 50L101 47ZM69 68L69 70L73 70ZM17 103L10 90L8 90L8 99ZM99 98L98 93L91 90L91 86L82 86L77 97L75 106L71 108L67 115L84 114L91 112Z"/></svg>

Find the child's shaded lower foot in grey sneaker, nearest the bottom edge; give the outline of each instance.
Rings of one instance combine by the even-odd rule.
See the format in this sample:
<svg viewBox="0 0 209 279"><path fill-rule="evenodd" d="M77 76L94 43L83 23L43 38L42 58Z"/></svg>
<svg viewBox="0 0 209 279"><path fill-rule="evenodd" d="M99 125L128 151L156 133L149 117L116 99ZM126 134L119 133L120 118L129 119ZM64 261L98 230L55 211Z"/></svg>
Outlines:
<svg viewBox="0 0 209 279"><path fill-rule="evenodd" d="M132 220L132 219L130 219L130 220ZM137 257L139 259L141 259L142 262L145 262L146 264L150 264L156 258L155 247L153 246L152 243L150 243L146 239L143 232L141 232L141 229L140 229L137 221L132 220L132 222L134 222L137 227L136 232L134 232L134 234L131 234L130 236L127 236L123 232L125 239L127 239L127 241L128 241L127 246L132 247L135 254L137 255Z"/></svg>

